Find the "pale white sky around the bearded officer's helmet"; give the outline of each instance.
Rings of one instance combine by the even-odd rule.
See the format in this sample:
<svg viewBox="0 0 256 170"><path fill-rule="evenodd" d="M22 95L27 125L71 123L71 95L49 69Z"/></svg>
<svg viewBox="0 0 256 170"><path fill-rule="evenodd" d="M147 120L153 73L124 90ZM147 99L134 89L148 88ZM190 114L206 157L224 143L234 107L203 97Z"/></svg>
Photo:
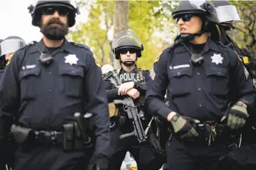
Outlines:
<svg viewBox="0 0 256 170"><path fill-rule="evenodd" d="M32 17L27 10L35 0L0 0L0 39L20 36L25 42L40 41L40 29L32 26ZM86 20L86 11L81 10L77 22Z"/></svg>

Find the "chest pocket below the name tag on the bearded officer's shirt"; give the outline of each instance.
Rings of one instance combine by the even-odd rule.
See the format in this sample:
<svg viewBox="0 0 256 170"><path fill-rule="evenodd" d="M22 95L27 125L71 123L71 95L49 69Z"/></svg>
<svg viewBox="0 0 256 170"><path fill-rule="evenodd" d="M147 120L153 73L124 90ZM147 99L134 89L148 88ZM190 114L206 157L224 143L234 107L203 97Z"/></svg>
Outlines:
<svg viewBox="0 0 256 170"><path fill-rule="evenodd" d="M32 99L36 98L38 90L36 90L37 83L40 80L40 66L33 69L21 70L20 81L21 81L21 99Z"/></svg>

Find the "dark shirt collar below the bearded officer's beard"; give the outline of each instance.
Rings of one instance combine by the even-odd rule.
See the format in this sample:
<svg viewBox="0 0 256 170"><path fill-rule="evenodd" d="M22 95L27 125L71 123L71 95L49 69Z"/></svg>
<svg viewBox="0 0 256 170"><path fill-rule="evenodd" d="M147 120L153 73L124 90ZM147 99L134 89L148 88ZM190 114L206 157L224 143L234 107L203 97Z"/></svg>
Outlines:
<svg viewBox="0 0 256 170"><path fill-rule="evenodd" d="M46 52L46 45L44 44L43 39L41 39L40 42L35 42L35 43L37 43L38 47L42 52ZM67 51L70 54L74 54L75 52L74 48L72 48L71 46L72 46L71 42L68 42L66 39L64 39L62 46L55 51L55 54L62 51ZM30 49L30 54L36 51L38 51L38 49L36 48L36 45L33 45L33 47Z"/></svg>

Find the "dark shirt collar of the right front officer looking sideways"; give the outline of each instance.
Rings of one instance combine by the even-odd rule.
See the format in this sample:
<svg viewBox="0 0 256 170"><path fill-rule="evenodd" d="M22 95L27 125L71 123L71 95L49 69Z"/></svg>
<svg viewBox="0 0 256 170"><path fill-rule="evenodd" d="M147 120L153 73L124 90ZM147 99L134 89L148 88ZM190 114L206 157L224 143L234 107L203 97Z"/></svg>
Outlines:
<svg viewBox="0 0 256 170"><path fill-rule="evenodd" d="M203 50L201 51L201 54L207 53L207 51L212 50L212 51L217 51L220 53L220 49L216 45L216 42L213 42L213 39L208 38L206 44L204 45ZM175 48L175 53L184 53L187 52L188 50L181 44L178 45L177 48Z"/></svg>

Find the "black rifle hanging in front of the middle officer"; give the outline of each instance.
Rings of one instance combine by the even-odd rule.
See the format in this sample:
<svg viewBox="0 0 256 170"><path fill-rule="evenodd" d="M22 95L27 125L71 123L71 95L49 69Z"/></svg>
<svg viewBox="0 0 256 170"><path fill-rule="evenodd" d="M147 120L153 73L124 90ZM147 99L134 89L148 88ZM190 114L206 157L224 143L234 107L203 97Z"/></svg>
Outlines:
<svg viewBox="0 0 256 170"><path fill-rule="evenodd" d="M134 127L134 131L128 134L122 134L120 136L120 139L135 135L139 143L146 141L147 137L145 135L143 126L141 124L140 116L137 113L137 108L135 107L132 98L126 97L124 100L114 100L114 103L123 104L125 106L124 110L126 113L128 113L128 118L131 119L131 122Z"/></svg>

